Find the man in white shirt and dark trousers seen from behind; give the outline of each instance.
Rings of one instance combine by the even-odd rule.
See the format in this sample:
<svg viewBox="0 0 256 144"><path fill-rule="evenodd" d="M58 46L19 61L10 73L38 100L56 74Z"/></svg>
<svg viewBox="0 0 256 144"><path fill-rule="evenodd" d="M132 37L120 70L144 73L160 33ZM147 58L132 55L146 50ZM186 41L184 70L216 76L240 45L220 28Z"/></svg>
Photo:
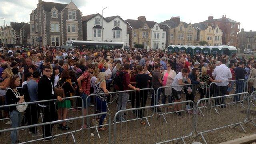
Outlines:
<svg viewBox="0 0 256 144"><path fill-rule="evenodd" d="M232 80L232 74L230 69L226 66L226 59L222 58L220 61L220 66L216 66L214 71L212 72L212 76L215 80L219 80L221 82L215 84L215 93L214 96L224 96L227 92L228 86L230 85L229 82L224 82L228 80ZM224 98L220 99L217 98L215 100L215 105L221 105L221 108L226 108L224 104Z"/></svg>

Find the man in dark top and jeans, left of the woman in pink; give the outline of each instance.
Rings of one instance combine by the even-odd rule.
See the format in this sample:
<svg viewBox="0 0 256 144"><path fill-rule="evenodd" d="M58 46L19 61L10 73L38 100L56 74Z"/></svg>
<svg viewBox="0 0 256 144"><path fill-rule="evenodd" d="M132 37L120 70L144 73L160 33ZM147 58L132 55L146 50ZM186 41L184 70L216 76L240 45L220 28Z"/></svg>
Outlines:
<svg viewBox="0 0 256 144"><path fill-rule="evenodd" d="M155 70L152 72L152 88L154 88L155 92L157 89L161 86L163 86L163 82L160 75L160 64L154 65ZM161 90L158 90L158 93L152 94L151 98L151 106L157 105L158 101L160 100ZM161 112L160 110L157 110L157 112Z"/></svg>

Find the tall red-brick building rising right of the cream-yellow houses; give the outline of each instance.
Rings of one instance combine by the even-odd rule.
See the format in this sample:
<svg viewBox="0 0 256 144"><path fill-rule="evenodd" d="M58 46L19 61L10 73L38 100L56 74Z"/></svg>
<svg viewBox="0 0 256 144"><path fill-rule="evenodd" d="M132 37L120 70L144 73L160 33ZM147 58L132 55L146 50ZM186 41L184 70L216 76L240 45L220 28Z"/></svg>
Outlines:
<svg viewBox="0 0 256 144"><path fill-rule="evenodd" d="M240 22L236 22L234 20L231 20L230 18L226 18L226 15L223 15L222 18L219 18L219 19L213 19L213 16L209 16L208 20L205 20L200 23L206 26L218 25L223 32L222 44L235 46L235 47L237 46L238 44L237 34L239 32Z"/></svg>

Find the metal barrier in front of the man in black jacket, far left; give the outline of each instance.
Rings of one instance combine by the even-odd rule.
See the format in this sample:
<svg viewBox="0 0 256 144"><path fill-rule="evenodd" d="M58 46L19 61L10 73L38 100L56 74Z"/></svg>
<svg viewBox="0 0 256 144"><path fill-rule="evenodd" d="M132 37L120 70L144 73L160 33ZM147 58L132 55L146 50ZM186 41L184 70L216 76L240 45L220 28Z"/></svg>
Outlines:
<svg viewBox="0 0 256 144"><path fill-rule="evenodd" d="M83 99L80 97L80 96L72 96L72 97L67 97L67 98L63 98L63 100L69 100L69 99L76 99L76 98L79 98L81 99L82 101L82 106L83 106ZM58 122L63 122L63 123L66 123L66 127L67 127L67 130L69 130L69 127L70 125L72 125L72 128L75 129L75 130L71 130L70 132L68 133L71 133L72 135L72 138L74 139L74 135L73 135L73 132L77 132L77 131L80 131L82 130L82 126L84 124L84 120L82 119L81 123L80 122L68 122L68 120L57 120L57 119L62 119L62 108L58 109L59 113L60 113L60 116L59 118L57 118L57 113L56 113L56 103L57 102L57 99L52 99L52 100L41 100L41 101L35 101L35 102L26 102L26 104L28 104L28 108L26 109L25 113L28 113L29 115L29 118L28 118L28 125L26 126L22 126L22 128L18 128L18 129L23 129L23 128L29 128L29 130L25 129L24 132L22 134L25 134L25 138L26 138L26 142L34 142L38 139L34 139L34 140L28 140L27 138L27 134L29 133L32 133L33 131L35 132L34 136L32 137L37 137L38 135L40 135L38 133L38 128L34 127L34 125L36 125L39 121L38 121L38 116L39 116L39 112L40 110L42 111L42 113L46 114L46 113L49 113L49 115L46 117L44 116L44 118L42 118L42 122L44 121L54 121L54 123L58 123ZM41 106L38 106L38 103L43 103L45 106L48 106L48 109L46 109L47 107L44 107L42 108ZM23 104L10 104L10 105L3 105L3 106L0 106L0 109L2 108L11 108L13 106L18 106L18 105L23 105ZM49 107L50 106L50 107ZM48 111L45 111L45 110L49 110ZM82 109L82 112L81 112L81 116L83 116L83 109ZM21 114L24 114L24 112L22 112ZM78 113L76 114L77 116L76 117L79 117ZM24 115L25 117L26 115ZM42 116L42 115L41 115ZM68 117L68 114L67 114L67 117ZM75 117L72 113L72 118ZM48 119L48 120L47 120ZM67 118L66 118L67 119ZM55 122L56 121L56 122ZM4 121L3 122L3 125L1 126L1 129L4 131L6 129L6 126L4 124ZM19 123L19 122L18 122ZM45 122L47 123L47 122ZM48 123L47 123L48 124ZM68 134L67 132L64 132L63 133L63 129L62 129L62 123L59 123L59 128L57 128L57 126L55 128L53 128L53 126L51 126L51 131L52 133L56 133L56 135L54 136L59 136L59 135L63 135L63 134ZM40 126L43 126L44 127L42 128L42 131L43 132L51 132L50 130L47 131L46 130L46 124L40 124ZM49 126L47 126L47 128L49 128ZM76 130L76 128L78 130ZM15 128L7 128L7 131L10 131L10 130L14 130ZM60 130L58 130L60 129ZM6 135L6 133L2 134L2 135ZM7 136L4 136L4 138L6 138ZM74 139L75 141L75 139Z"/></svg>

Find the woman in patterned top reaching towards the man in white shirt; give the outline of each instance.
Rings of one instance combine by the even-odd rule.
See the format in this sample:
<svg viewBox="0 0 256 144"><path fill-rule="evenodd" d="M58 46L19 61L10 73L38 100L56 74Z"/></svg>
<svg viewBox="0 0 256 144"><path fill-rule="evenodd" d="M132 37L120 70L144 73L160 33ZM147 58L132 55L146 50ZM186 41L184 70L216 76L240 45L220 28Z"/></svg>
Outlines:
<svg viewBox="0 0 256 144"><path fill-rule="evenodd" d="M210 82L220 82L219 80L213 80L208 74L207 74L207 68L202 67L202 72L198 75L200 82L204 82L204 84L199 84L198 91L200 94L200 99L204 98L204 94L206 94L206 88L209 88L209 81ZM209 92L209 91L207 91ZM206 98L209 97L209 94L206 94ZM202 108L207 108L204 104L204 101L201 103Z"/></svg>

